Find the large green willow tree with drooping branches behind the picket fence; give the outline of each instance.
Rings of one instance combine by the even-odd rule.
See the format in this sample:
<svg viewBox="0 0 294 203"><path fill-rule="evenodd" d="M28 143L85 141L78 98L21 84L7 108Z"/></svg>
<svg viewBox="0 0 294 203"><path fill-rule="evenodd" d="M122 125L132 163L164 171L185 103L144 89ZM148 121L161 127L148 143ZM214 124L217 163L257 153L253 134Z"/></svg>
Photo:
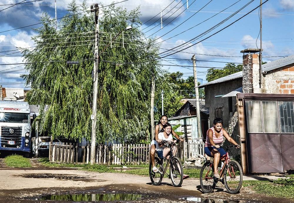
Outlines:
<svg viewBox="0 0 294 203"><path fill-rule="evenodd" d="M91 138L94 16L73 1L59 29L48 14L35 29L36 47L25 50L28 101L42 111L38 127L53 137ZM151 79L157 77L158 50L142 41L138 9L100 9L96 140L137 142L148 137ZM102 16L102 17L101 17ZM131 25L133 29L113 37ZM107 46L110 44L111 46ZM103 50L103 52L102 52ZM80 61L67 65L66 61ZM47 108L46 108L47 107Z"/></svg>

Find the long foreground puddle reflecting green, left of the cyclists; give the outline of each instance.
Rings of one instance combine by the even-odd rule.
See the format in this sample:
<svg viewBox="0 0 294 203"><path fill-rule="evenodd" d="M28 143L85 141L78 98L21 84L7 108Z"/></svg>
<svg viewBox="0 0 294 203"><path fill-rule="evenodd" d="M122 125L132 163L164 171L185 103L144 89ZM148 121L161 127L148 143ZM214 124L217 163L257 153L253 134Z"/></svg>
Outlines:
<svg viewBox="0 0 294 203"><path fill-rule="evenodd" d="M39 200L63 200L74 202L90 202L90 201L133 201L142 199L140 194L60 194L47 195Z"/></svg>

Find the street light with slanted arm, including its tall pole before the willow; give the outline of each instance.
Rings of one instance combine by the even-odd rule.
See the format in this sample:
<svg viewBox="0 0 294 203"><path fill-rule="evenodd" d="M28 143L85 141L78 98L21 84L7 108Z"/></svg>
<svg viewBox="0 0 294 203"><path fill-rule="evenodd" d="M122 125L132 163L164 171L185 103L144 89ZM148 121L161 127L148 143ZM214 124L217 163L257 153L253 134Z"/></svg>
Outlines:
<svg viewBox="0 0 294 203"><path fill-rule="evenodd" d="M98 10L99 11L99 10ZM98 25L98 12L96 10L95 12L95 31L98 33L99 25ZM116 36L113 38L113 41L118 37L119 34L121 34L123 31L132 29L132 26L127 26L125 29L120 31ZM91 115L91 120L92 120L92 134L91 134L91 159L90 163L93 165L95 163L95 155L96 155L96 114L97 114L97 94L98 94L98 75L97 75L97 66L100 63L100 54L98 54L98 36L96 35L95 37L95 52L94 52L94 57L95 57L95 62L94 62L94 67L93 67L93 110L92 110L92 115ZM111 44L111 42L104 47L101 53L105 51L105 49ZM97 56L98 55L98 56Z"/></svg>

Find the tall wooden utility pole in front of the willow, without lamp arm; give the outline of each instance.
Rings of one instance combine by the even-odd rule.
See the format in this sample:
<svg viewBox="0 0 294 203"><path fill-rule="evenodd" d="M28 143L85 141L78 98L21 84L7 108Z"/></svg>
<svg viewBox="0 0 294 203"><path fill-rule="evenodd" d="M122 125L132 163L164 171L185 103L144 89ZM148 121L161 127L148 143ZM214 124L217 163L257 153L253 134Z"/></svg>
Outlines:
<svg viewBox="0 0 294 203"><path fill-rule="evenodd" d="M96 157L96 114L97 114L97 94L98 94L98 75L97 66L99 65L98 59L98 38L99 38L99 6L98 4L91 6L91 12L95 12L95 46L94 46L94 67L93 67L93 110L91 115L92 120L92 134L91 134L91 160L90 164L95 163Z"/></svg>

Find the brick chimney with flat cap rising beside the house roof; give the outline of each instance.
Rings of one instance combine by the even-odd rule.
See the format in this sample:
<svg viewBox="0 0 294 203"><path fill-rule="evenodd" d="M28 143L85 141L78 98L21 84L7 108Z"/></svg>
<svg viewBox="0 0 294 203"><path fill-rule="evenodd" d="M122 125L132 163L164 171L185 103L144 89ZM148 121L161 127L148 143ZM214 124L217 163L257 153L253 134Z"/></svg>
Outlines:
<svg viewBox="0 0 294 203"><path fill-rule="evenodd" d="M243 53L243 93L261 93L259 87L259 52L260 49L244 49Z"/></svg>

